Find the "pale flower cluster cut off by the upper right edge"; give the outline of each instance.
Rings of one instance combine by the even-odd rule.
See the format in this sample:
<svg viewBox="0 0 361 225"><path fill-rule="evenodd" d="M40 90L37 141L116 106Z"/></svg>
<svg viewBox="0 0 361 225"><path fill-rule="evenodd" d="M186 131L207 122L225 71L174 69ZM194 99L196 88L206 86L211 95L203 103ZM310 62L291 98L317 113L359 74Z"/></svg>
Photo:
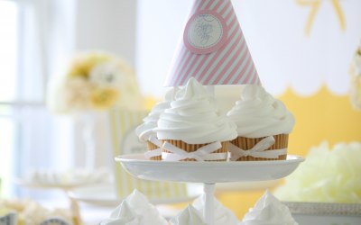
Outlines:
<svg viewBox="0 0 361 225"><path fill-rule="evenodd" d="M350 100L356 110L361 110L361 44L349 70L351 75Z"/></svg>

